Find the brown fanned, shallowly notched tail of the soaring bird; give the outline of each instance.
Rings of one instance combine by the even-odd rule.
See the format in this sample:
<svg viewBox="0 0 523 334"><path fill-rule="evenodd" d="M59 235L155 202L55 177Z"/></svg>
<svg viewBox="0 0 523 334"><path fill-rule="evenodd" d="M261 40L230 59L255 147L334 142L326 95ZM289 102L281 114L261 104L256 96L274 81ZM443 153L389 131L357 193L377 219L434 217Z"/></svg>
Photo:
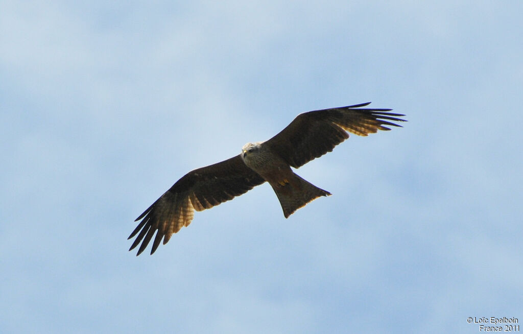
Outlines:
<svg viewBox="0 0 523 334"><path fill-rule="evenodd" d="M290 180L274 184L271 183L271 186L278 196L281 209L283 209L283 215L286 218L310 201L320 196L331 195L330 192L314 186L312 183L305 181L294 173L292 173Z"/></svg>

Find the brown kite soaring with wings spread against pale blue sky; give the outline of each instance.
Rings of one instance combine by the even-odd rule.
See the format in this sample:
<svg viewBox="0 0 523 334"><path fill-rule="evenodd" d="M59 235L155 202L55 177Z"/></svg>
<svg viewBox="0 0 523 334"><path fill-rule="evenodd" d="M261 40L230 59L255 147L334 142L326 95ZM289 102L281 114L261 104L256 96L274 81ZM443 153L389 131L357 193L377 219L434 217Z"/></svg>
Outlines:
<svg viewBox="0 0 523 334"><path fill-rule="evenodd" d="M232 200L265 181L276 192L286 218L310 201L330 195L294 174L291 167L331 152L349 137L347 132L366 136L390 130L385 125L401 126L393 121L405 121L398 118L405 115L389 112L392 109L362 108L369 104L301 113L271 139L245 144L240 155L188 172L135 220L142 221L128 239L140 233L129 250L143 240L140 255L156 233L152 255L162 239L165 245L173 233L191 223L195 210Z"/></svg>

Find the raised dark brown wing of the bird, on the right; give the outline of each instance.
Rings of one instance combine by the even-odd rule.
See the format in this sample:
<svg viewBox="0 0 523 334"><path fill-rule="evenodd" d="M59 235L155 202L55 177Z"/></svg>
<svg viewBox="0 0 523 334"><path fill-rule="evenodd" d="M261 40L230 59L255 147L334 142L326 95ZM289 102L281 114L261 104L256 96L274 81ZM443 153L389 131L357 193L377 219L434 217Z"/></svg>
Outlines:
<svg viewBox="0 0 523 334"><path fill-rule="evenodd" d="M331 152L349 137L347 132L366 136L378 130L390 130L384 125L401 126L390 121L405 121L397 118L405 115L388 112L392 109L356 109L368 105L370 102L301 113L262 145L268 145L272 152L298 168Z"/></svg>

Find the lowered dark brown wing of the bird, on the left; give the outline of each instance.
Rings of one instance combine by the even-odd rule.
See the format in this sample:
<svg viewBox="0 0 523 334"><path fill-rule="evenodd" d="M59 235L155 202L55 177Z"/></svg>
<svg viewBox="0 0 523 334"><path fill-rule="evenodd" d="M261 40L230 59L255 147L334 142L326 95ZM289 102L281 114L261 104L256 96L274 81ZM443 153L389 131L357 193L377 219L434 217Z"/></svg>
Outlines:
<svg viewBox="0 0 523 334"><path fill-rule="evenodd" d="M173 233L191 223L194 210L210 209L263 182L265 180L247 167L240 155L188 172L135 220L143 218L128 238L140 232L129 250L143 239L137 256L140 255L158 231L151 249L153 254L162 238L165 245Z"/></svg>

